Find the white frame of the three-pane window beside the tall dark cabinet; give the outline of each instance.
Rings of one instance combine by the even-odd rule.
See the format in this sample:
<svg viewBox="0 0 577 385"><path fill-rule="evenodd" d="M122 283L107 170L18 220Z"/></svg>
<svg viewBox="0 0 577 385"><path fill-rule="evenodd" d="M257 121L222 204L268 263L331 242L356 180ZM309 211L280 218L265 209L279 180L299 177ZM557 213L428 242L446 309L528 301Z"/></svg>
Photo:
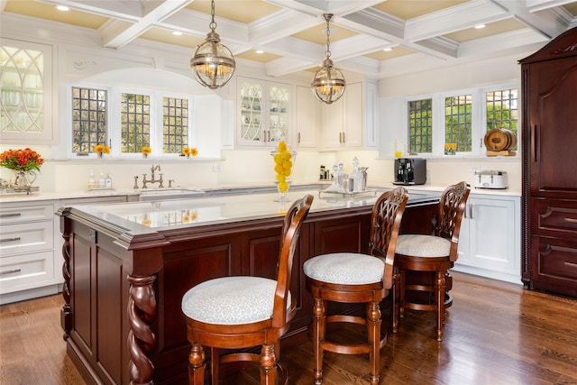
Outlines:
<svg viewBox="0 0 577 385"><path fill-rule="evenodd" d="M431 99L433 111L433 146L432 152L418 152L422 158L485 158L485 144L483 138L487 133L487 104L486 93L495 92L504 89L517 89L517 130L520 126L521 115L518 106L521 105L520 84L518 82L499 83L495 85L482 87L469 87L462 89L454 89L434 94L422 94L417 96L403 97L402 108L402 124L403 124L403 142L405 143L404 150L408 150L408 103L417 100ZM471 141L472 151L458 151L455 155L444 154L444 139L445 139L445 97L471 95L472 97L472 122L471 122ZM400 143L399 143L400 144ZM519 146L519 133L517 133L517 147ZM405 151L406 152L406 151ZM517 155L514 157L518 157Z"/></svg>

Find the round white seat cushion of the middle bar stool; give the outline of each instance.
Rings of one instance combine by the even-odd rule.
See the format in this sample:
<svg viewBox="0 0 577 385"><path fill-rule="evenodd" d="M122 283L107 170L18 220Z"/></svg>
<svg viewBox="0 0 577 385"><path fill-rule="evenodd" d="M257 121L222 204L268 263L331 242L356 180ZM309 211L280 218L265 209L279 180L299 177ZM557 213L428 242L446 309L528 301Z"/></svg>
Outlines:
<svg viewBox="0 0 577 385"><path fill-rule="evenodd" d="M385 263L380 258L356 252L334 252L306 261L307 277L327 283L362 285L382 280Z"/></svg>

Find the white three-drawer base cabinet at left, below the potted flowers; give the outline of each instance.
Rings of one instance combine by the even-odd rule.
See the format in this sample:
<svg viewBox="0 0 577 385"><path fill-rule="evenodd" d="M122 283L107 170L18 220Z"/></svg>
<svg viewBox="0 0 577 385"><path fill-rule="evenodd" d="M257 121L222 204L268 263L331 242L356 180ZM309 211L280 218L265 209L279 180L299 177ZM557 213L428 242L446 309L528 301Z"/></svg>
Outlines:
<svg viewBox="0 0 577 385"><path fill-rule="evenodd" d="M54 211L51 201L0 206L0 303L29 298L17 294L24 290L49 289L35 296L58 292L63 279L55 263Z"/></svg>

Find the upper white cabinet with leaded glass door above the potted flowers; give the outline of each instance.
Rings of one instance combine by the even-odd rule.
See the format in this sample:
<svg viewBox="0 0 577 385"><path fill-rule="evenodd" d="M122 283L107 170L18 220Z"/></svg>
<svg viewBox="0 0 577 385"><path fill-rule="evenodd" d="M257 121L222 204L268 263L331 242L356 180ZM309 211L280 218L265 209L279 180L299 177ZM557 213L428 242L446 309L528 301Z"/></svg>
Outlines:
<svg viewBox="0 0 577 385"><path fill-rule="evenodd" d="M13 143L52 140L52 47L2 39L0 139Z"/></svg>

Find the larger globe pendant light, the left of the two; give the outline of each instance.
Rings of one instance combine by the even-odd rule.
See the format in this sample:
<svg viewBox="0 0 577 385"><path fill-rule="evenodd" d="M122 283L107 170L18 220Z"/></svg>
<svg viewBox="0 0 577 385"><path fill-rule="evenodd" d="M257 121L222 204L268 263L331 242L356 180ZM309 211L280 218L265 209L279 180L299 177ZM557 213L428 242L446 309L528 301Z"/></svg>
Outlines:
<svg viewBox="0 0 577 385"><path fill-rule="evenodd" d="M210 89L223 87L233 77L233 53L220 43L220 36L215 32L215 0L211 1L210 32L206 34L206 41L197 47L195 56L190 60L190 68L195 74L198 83Z"/></svg>

